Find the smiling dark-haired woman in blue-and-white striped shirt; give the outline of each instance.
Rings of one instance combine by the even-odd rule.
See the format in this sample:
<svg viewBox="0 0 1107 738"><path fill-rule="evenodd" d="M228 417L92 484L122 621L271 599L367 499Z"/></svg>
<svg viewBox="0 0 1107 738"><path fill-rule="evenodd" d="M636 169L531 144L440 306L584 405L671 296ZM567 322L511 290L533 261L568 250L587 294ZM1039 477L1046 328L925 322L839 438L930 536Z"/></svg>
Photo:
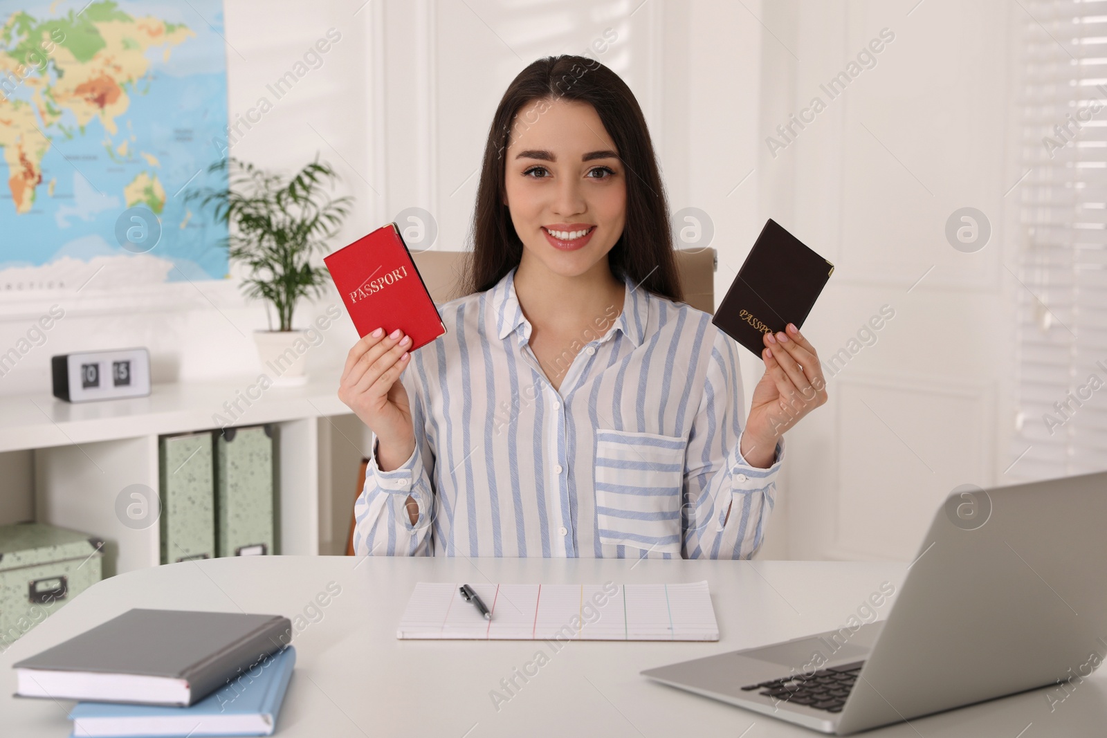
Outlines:
<svg viewBox="0 0 1107 738"><path fill-rule="evenodd" d="M374 436L358 555L754 554L782 434L825 382L794 325L767 334L741 422L736 344L681 302L668 214L617 74L567 55L519 73L445 335L410 354L379 329L346 358L339 397Z"/></svg>

